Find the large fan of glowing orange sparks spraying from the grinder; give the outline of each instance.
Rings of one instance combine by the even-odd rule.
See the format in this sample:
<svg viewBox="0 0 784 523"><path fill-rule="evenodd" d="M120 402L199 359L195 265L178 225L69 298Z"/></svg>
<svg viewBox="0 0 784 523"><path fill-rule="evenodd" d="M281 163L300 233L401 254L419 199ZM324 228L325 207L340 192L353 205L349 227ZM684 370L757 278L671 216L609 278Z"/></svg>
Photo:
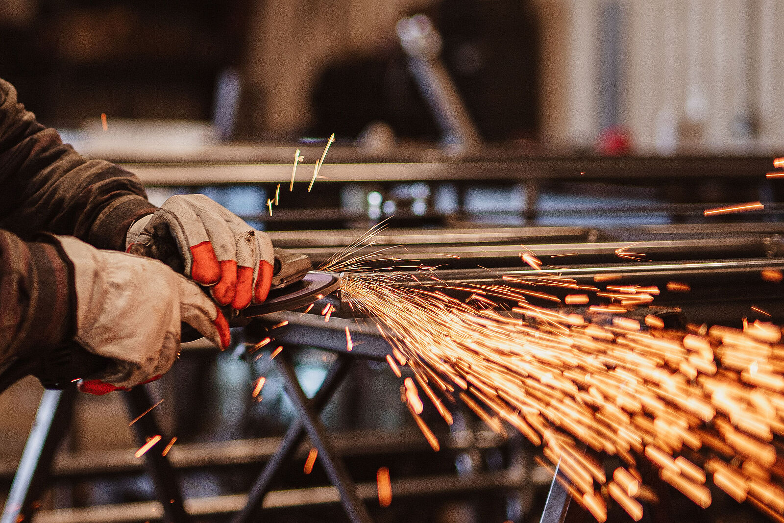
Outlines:
<svg viewBox="0 0 784 523"><path fill-rule="evenodd" d="M611 500L631 518L642 517L638 498L650 499L644 494L650 489L641 485L641 460L699 507L710 505L712 482L765 514L784 512L781 476L772 470L779 461L774 438L784 435L777 325L665 329L653 314L631 314L647 307L658 288L607 285L602 291L547 273L504 275L498 285L453 285L468 292L460 301L441 292L450 285L432 271L423 278L363 270L373 258L355 255L357 245L341 254L346 261L322 269L347 271L344 299L376 319L392 347L387 362L395 375L401 377L397 363L414 372L403 381L401 400L434 450L440 446L420 416L420 391L446 423L452 416L445 405L461 401L496 433L514 427L541 445L546 459L559 464L555 479L597 521L607 518ZM779 271L771 272L781 281ZM617 278L597 274L594 281ZM532 289L539 285L588 292L568 295L570 305L585 304L591 292L611 303L583 314L539 307L529 300L557 300ZM690 290L677 281L666 287ZM620 460L612 478L601 467L604 455Z"/></svg>

